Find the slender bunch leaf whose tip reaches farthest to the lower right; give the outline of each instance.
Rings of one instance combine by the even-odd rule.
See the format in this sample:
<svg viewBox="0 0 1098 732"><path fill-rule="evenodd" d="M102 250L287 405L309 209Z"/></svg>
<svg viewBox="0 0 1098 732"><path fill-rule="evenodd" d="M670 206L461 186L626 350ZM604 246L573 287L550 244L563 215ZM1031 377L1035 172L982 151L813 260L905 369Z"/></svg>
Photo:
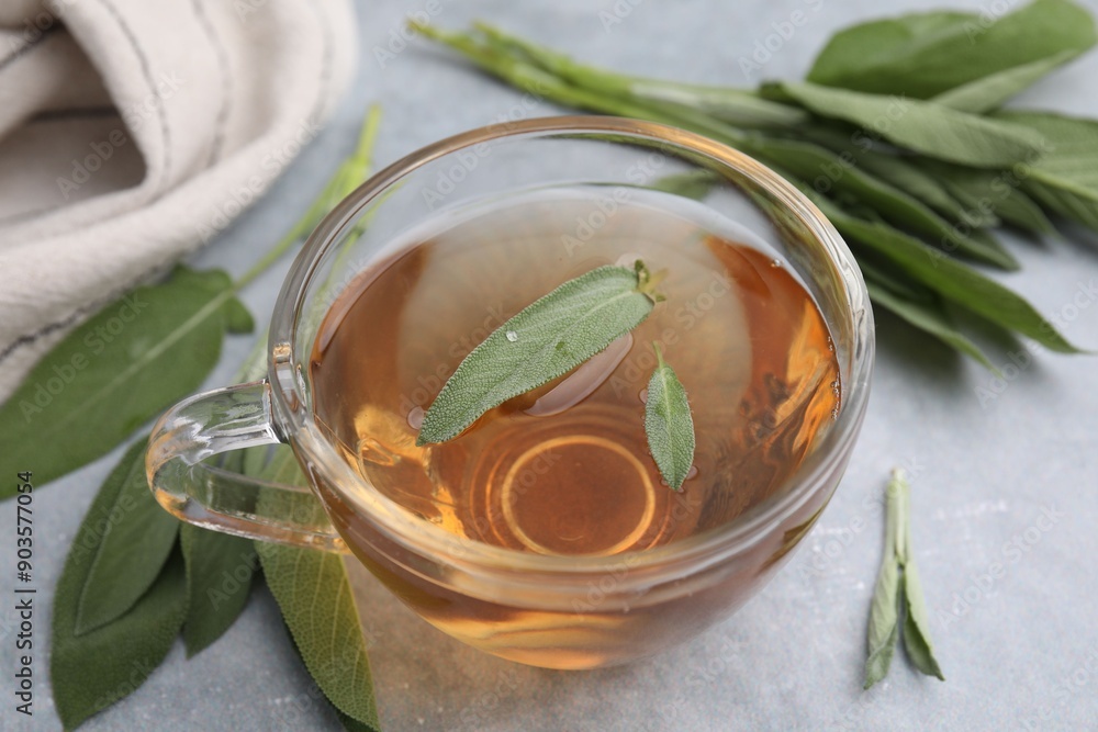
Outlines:
<svg viewBox="0 0 1098 732"><path fill-rule="evenodd" d="M888 259L945 300L1004 328L1028 336L1050 350L1061 353L1080 352L1032 305L1008 288L918 239L885 224L855 218L814 191L802 190L843 237Z"/></svg>

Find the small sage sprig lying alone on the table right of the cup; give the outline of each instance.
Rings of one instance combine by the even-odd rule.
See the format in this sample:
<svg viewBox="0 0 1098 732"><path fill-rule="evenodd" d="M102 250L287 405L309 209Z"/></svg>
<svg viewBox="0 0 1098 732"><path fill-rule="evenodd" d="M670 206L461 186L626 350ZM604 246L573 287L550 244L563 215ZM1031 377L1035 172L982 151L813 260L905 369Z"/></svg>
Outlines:
<svg viewBox="0 0 1098 732"><path fill-rule="evenodd" d="M888 674L900 634L911 665L944 682L930 643L926 600L911 550L910 486L903 471L893 471L885 495L885 551L870 608L864 688Z"/></svg>

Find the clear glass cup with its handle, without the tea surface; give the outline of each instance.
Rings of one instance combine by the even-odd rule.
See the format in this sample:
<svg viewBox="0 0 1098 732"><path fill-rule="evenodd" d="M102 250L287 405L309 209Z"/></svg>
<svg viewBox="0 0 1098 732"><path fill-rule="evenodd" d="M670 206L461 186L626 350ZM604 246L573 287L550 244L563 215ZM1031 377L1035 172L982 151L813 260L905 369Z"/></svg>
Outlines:
<svg viewBox="0 0 1098 732"><path fill-rule="evenodd" d="M316 420L310 354L322 319L386 245L434 216L523 190L636 187L708 171L704 204L782 252L822 314L841 406L782 489L735 520L662 547L559 556L460 538L397 505ZM367 225L368 224L368 225ZM147 471L178 518L220 531L351 552L415 612L466 643L551 668L650 655L729 616L805 537L845 469L869 396L873 317L852 255L822 214L753 159L664 125L527 120L430 145L373 176L316 227L274 306L262 381L186 399L157 424ZM221 470L210 458L289 443L310 487ZM316 502L323 511L313 510Z"/></svg>

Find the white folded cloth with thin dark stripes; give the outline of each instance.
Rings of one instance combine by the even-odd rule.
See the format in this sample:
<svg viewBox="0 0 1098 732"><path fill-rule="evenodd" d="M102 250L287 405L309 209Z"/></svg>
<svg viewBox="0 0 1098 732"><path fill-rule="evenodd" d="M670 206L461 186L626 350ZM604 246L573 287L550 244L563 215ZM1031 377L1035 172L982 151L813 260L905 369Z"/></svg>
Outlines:
<svg viewBox="0 0 1098 732"><path fill-rule="evenodd" d="M347 0L3 0L0 399L258 199L355 46Z"/></svg>

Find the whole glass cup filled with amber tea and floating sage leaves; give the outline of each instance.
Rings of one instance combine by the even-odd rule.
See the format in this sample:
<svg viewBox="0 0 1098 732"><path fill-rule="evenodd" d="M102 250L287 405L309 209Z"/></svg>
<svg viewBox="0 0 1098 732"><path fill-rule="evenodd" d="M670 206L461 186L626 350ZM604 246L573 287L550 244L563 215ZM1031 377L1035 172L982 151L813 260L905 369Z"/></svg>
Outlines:
<svg viewBox="0 0 1098 732"><path fill-rule="evenodd" d="M864 412L872 319L838 235L765 168L558 117L368 181L306 244L270 344L268 380L158 425L160 503L350 551L471 645L593 668L727 617L807 533ZM274 440L330 526L201 462Z"/></svg>

